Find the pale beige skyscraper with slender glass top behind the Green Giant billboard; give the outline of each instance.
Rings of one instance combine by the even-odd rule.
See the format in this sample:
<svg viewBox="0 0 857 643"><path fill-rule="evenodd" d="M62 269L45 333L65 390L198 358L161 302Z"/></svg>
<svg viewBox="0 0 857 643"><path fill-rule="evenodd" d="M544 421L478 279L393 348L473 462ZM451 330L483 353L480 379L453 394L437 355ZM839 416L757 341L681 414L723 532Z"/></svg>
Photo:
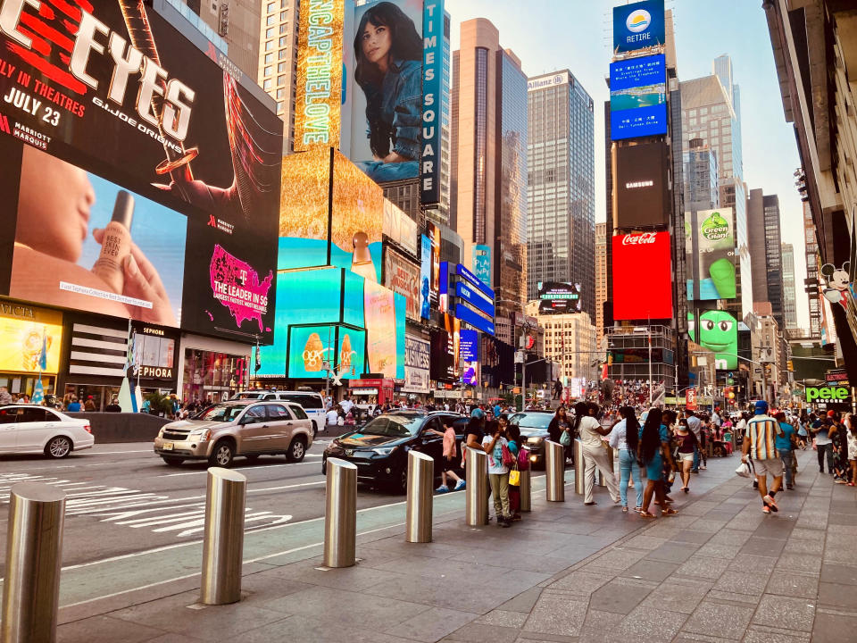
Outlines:
<svg viewBox="0 0 857 643"><path fill-rule="evenodd" d="M727 301L726 309L743 319L753 310L753 280L747 246L747 213L744 186L744 162L741 154L740 90L732 82L732 63L719 56L712 63L711 76L680 83L681 124L684 149L690 141L702 138L716 154L720 207L732 208L736 230L737 296Z"/></svg>

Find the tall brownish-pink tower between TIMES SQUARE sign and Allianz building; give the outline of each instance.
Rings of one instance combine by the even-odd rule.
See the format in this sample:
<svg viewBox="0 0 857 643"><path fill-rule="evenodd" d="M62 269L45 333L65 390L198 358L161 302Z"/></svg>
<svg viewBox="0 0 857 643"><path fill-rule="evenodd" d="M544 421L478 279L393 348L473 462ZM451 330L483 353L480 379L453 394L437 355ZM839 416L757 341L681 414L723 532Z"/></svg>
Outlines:
<svg viewBox="0 0 857 643"><path fill-rule="evenodd" d="M523 311L527 296L527 77L484 18L462 22L453 53L453 207L450 227L488 246L497 316ZM498 337L511 341L497 323Z"/></svg>

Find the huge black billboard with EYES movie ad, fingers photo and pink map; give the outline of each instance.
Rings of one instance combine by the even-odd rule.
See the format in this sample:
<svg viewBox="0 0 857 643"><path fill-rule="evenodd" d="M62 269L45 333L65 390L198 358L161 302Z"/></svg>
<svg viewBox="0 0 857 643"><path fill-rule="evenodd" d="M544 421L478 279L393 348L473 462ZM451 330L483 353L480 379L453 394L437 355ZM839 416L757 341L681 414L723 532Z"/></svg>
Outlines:
<svg viewBox="0 0 857 643"><path fill-rule="evenodd" d="M52 6L3 5L0 294L270 342L282 122L146 4Z"/></svg>

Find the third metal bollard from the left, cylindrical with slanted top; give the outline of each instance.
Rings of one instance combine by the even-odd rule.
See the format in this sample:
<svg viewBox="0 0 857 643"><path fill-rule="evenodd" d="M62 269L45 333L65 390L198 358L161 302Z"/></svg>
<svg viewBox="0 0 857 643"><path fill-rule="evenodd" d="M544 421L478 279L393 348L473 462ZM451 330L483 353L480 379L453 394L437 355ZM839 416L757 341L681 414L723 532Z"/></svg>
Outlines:
<svg viewBox="0 0 857 643"><path fill-rule="evenodd" d="M328 458L324 503L324 566L351 567L356 558L357 466Z"/></svg>

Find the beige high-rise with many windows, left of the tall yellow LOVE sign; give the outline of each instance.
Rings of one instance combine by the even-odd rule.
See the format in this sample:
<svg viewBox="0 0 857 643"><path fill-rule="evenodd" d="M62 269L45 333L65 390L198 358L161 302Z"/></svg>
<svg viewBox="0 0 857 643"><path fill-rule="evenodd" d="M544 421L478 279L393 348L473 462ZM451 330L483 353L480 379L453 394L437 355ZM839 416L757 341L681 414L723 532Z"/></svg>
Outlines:
<svg viewBox="0 0 857 643"><path fill-rule="evenodd" d="M295 76L299 0L261 0L257 22L256 74L262 89L277 101L277 115L286 123L283 151L292 150L295 138Z"/></svg>

